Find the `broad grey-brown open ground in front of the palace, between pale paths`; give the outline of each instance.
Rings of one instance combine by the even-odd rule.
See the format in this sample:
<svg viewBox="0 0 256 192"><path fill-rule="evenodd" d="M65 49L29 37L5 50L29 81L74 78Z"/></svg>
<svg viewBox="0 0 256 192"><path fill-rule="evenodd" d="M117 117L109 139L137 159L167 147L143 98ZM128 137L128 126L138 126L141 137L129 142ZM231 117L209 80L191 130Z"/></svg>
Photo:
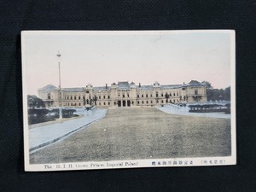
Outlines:
<svg viewBox="0 0 256 192"><path fill-rule="evenodd" d="M230 156L230 119L108 109L105 118L30 155L30 163Z"/></svg>

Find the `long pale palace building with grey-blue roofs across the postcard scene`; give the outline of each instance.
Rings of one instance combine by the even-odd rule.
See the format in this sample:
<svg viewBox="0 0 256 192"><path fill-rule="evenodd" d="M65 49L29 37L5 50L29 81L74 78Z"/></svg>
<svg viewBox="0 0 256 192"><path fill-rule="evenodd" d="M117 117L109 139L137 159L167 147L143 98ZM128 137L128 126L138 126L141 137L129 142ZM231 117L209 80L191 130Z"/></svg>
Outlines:
<svg viewBox="0 0 256 192"><path fill-rule="evenodd" d="M48 84L38 89L38 96L49 107L83 107L96 105L98 108L122 108L164 105L166 102L206 102L206 84L191 80L188 84L151 85L127 81L93 87L87 84L80 88L59 88Z"/></svg>

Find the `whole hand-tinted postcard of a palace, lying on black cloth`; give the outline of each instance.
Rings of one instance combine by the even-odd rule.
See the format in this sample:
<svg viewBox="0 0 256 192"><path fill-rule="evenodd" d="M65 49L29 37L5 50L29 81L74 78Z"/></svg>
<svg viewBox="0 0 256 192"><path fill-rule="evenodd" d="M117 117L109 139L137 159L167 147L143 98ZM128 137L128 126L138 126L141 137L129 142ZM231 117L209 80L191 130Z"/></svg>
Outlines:
<svg viewBox="0 0 256 192"><path fill-rule="evenodd" d="M28 172L236 165L235 31L21 32Z"/></svg>

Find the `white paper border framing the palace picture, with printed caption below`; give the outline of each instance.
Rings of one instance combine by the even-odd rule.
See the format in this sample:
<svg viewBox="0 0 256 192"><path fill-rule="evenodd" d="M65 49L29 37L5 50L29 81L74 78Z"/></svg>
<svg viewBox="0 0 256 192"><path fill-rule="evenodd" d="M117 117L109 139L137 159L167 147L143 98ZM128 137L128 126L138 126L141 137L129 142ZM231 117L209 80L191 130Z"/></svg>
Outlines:
<svg viewBox="0 0 256 192"><path fill-rule="evenodd" d="M230 34L230 70L231 70L231 156L229 157L200 157L200 158L171 158L150 160L110 160L89 162L67 162L60 164L30 164L29 136L26 94L26 35L143 35L143 34L181 34L181 33L229 33ZM235 30L186 30L186 31L22 31L21 32L21 61L23 89L23 126L24 126L24 160L26 172L71 171L115 168L140 167L176 167L176 166L231 166L236 165L236 32ZM153 165L155 162L155 165Z"/></svg>

